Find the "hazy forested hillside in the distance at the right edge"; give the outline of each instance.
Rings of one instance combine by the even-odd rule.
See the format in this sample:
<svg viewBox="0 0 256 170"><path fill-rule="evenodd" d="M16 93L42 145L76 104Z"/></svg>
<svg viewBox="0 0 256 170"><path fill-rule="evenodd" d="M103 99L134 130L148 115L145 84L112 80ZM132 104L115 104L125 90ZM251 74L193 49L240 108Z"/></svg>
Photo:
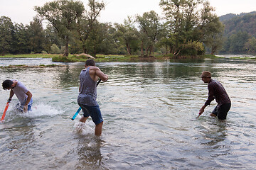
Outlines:
<svg viewBox="0 0 256 170"><path fill-rule="evenodd" d="M256 53L256 11L220 16L225 25L223 34L223 54Z"/></svg>

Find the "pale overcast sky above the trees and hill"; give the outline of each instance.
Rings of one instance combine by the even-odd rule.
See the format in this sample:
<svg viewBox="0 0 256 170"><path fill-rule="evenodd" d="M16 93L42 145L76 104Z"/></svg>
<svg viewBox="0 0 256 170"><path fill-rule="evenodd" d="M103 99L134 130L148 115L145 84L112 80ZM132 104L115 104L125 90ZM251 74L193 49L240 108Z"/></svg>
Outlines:
<svg viewBox="0 0 256 170"><path fill-rule="evenodd" d="M0 16L8 16L13 23L29 24L36 16L33 6L43 6L53 0L0 0ZM101 0L100 0L101 1ZM127 16L142 15L151 10L162 16L159 7L160 0L104 0L107 4L100 15L101 22L123 23ZM256 11L256 0L209 0L210 5L215 7L218 16L227 13L247 13ZM83 1L85 8L87 1Z"/></svg>

